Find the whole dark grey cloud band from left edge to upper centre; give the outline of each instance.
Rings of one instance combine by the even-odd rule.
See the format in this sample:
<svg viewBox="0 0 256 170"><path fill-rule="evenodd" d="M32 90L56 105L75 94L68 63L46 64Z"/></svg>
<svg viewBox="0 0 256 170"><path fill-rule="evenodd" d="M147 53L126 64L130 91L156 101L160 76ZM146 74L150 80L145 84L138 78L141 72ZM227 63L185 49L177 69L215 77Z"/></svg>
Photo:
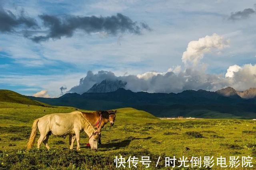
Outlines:
<svg viewBox="0 0 256 170"><path fill-rule="evenodd" d="M15 15L9 10L4 10L0 5L0 32L15 32L38 43L48 39L72 37L76 30L82 30L86 34L106 32L109 35L124 32L139 35L142 29L151 30L146 23L132 21L122 14L107 17L44 14L38 17L42 21L42 24L39 24L42 27L38 26L34 18L26 16L23 10Z"/></svg>

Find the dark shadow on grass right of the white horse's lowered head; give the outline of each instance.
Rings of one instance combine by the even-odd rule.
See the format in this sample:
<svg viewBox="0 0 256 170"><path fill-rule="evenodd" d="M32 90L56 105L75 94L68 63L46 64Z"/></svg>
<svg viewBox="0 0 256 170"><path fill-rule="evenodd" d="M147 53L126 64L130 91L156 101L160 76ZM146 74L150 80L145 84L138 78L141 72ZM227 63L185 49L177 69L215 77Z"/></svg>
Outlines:
<svg viewBox="0 0 256 170"><path fill-rule="evenodd" d="M145 137L145 138L133 138L133 139L125 139L123 141L119 141L119 139L113 139L110 143L103 143L99 145L100 151L107 151L107 150L117 150L121 148L125 148L130 145L131 141L138 140L138 139L151 139L152 137ZM119 142L116 142L119 141ZM82 146L81 148L88 148L86 146Z"/></svg>

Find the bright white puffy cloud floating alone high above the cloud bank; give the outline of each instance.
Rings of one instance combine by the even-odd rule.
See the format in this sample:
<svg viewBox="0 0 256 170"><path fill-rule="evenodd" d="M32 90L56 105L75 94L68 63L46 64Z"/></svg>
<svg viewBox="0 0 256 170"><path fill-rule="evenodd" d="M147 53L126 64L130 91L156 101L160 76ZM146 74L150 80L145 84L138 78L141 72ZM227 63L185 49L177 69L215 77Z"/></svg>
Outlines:
<svg viewBox="0 0 256 170"><path fill-rule="evenodd" d="M198 41L190 41L186 51L182 55L182 62L185 64L193 63L197 65L198 62L204 57L205 53L212 51L220 51L223 48L229 47L229 41L224 37L213 33L206 35Z"/></svg>

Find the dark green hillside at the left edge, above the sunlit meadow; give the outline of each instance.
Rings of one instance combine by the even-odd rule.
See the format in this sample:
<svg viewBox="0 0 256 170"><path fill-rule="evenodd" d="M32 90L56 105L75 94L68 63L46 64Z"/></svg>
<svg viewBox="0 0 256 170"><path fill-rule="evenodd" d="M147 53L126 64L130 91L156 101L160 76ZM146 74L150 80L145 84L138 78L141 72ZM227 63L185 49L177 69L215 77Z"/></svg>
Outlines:
<svg viewBox="0 0 256 170"><path fill-rule="evenodd" d="M11 90L0 90L0 102L9 102L9 103L18 103L26 105L35 105L35 106L50 106L49 104L44 104L27 98L21 94L13 92Z"/></svg>

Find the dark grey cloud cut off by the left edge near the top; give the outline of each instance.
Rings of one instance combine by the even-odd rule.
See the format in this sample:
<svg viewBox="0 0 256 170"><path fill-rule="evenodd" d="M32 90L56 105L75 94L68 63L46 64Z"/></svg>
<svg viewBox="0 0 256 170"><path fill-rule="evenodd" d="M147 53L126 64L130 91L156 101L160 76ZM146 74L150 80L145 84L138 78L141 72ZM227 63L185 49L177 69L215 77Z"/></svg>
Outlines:
<svg viewBox="0 0 256 170"><path fill-rule="evenodd" d="M11 11L5 11L0 6L0 31L12 32L18 27L34 27L37 26L36 20L24 15L24 11L20 12L18 16L15 16Z"/></svg>

